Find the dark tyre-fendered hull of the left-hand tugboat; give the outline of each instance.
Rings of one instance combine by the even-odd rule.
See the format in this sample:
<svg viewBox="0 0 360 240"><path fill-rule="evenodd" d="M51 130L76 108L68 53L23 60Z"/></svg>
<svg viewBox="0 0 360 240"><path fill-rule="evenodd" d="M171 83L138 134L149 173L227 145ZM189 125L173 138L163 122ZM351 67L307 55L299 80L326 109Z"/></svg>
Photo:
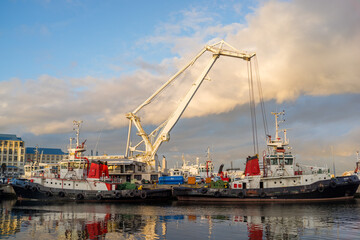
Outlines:
<svg viewBox="0 0 360 240"><path fill-rule="evenodd" d="M12 185L19 200L42 201L101 201L101 202L144 202L167 200L172 197L171 189L83 191L48 188L38 184L17 181Z"/></svg>

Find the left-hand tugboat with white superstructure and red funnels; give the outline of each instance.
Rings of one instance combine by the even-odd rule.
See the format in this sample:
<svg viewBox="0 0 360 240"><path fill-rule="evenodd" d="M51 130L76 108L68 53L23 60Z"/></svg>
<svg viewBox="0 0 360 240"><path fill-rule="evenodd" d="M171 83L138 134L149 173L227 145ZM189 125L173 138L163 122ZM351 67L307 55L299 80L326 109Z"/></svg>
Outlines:
<svg viewBox="0 0 360 240"><path fill-rule="evenodd" d="M76 144L70 139L69 156L59 163L60 170L46 168L27 179L15 179L11 185L19 199L144 201L171 197L171 189L150 189L131 183L119 183L109 177L107 162L89 161L80 144L80 124L74 121Z"/></svg>

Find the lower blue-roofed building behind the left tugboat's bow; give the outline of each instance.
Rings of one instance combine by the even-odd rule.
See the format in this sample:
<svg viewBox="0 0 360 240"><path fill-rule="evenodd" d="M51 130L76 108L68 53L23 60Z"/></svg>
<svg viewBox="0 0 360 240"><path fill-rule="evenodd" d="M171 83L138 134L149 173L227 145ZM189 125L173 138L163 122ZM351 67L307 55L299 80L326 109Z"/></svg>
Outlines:
<svg viewBox="0 0 360 240"><path fill-rule="evenodd" d="M25 158L27 163L38 162L56 164L63 160L64 156L66 156L66 153L60 148L27 147Z"/></svg>

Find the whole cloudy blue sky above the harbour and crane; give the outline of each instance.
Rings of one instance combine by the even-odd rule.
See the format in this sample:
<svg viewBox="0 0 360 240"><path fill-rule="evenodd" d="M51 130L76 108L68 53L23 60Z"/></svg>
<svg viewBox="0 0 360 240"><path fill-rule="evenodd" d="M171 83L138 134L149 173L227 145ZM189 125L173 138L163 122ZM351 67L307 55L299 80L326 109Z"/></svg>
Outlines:
<svg viewBox="0 0 360 240"><path fill-rule="evenodd" d="M360 150L360 2L0 2L0 133L66 151L72 121L99 154L124 154L125 114L207 44L255 52L266 118L285 110L297 161L353 170ZM179 103L209 55L139 112L152 131ZM246 63L221 57L158 155L244 168L253 154ZM261 114L257 109L257 119ZM265 135L258 121L259 147ZM134 132L134 131L133 131ZM133 134L132 139L136 138ZM136 140L132 140L136 142Z"/></svg>

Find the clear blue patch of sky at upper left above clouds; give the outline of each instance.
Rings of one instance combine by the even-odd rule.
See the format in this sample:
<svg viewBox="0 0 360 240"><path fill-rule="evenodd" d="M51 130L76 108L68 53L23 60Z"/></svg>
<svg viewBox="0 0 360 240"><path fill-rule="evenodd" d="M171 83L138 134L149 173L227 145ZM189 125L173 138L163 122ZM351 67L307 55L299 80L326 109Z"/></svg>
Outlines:
<svg viewBox="0 0 360 240"><path fill-rule="evenodd" d="M204 18L207 14L214 17L209 22L204 19L203 26L231 23L238 18L232 1L3 1L0 4L4 56L1 80L36 78L42 74L118 76L118 66L122 66L120 73L129 72L134 69L131 62L135 59L156 63L171 56L169 47L146 44L147 38L162 31L165 23L181 21L191 11L197 14L198 8L205 11L201 13ZM242 11L249 10L246 6ZM179 31L178 34L193 34L194 29Z"/></svg>

